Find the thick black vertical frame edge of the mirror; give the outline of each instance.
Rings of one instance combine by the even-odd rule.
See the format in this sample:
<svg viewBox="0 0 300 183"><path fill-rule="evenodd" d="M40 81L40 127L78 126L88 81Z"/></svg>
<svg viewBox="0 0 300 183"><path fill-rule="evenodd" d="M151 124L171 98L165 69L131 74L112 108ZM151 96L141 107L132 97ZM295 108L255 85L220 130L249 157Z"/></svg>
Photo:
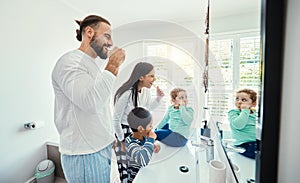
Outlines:
<svg viewBox="0 0 300 183"><path fill-rule="evenodd" d="M263 128L256 158L257 183L277 182L285 12L286 0L261 1L263 111L259 122Z"/></svg>

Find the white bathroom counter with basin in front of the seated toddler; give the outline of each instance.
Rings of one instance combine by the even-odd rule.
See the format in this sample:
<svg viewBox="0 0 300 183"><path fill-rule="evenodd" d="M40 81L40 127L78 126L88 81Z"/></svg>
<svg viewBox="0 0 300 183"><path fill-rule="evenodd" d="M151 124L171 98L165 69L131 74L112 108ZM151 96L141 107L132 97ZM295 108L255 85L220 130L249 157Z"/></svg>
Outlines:
<svg viewBox="0 0 300 183"><path fill-rule="evenodd" d="M161 151L153 154L149 165L139 171L135 183L208 182L208 163L204 149L199 151L200 166L197 168L196 149L190 143L181 148L160 145Z"/></svg>

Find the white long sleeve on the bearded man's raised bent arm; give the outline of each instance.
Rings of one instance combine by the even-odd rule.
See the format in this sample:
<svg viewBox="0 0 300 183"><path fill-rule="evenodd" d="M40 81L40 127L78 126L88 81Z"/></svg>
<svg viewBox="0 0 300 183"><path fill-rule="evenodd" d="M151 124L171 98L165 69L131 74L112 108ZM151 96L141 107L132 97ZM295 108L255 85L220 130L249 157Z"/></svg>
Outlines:
<svg viewBox="0 0 300 183"><path fill-rule="evenodd" d="M53 73L53 79L69 100L90 113L97 113L99 108L109 105L115 78L109 71L93 78L78 62L63 62Z"/></svg>

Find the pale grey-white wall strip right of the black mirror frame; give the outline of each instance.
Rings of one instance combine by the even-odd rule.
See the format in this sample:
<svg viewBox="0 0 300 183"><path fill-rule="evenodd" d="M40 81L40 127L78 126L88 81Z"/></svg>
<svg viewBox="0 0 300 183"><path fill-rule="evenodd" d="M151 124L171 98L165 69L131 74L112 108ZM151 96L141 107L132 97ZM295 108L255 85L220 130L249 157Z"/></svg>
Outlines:
<svg viewBox="0 0 300 183"><path fill-rule="evenodd" d="M279 183L299 182L300 164L300 1L289 0L287 5L284 42L284 70L280 126Z"/></svg>

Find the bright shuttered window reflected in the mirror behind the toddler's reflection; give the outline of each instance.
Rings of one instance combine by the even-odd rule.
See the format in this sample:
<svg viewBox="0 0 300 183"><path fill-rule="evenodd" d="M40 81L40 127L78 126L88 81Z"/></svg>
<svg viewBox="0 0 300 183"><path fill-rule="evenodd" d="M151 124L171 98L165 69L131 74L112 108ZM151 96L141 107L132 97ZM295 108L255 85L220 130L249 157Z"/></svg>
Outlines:
<svg viewBox="0 0 300 183"><path fill-rule="evenodd" d="M223 81L209 83L208 105L212 109L211 116L223 123L228 123L228 110L235 108L235 91L251 88L259 94L261 85L259 36L241 34L227 37L210 41L210 51L216 61L209 65L209 69L210 72L219 69Z"/></svg>

